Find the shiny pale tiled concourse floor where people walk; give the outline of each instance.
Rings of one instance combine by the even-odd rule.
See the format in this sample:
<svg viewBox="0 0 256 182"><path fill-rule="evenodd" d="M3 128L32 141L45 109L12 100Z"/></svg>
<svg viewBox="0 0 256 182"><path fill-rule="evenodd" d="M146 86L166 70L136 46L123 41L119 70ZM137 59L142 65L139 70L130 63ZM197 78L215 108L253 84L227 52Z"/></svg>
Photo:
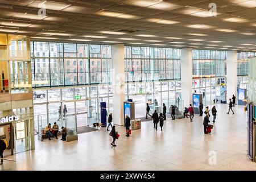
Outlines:
<svg viewBox="0 0 256 182"><path fill-rule="evenodd" d="M255 170L247 156L246 112L236 106L234 115L226 114L228 105L217 105L217 120L212 134L204 135L203 118L164 123L155 131L152 122L121 137L117 147L105 131L79 135L79 140L36 140L36 150L16 154L17 170ZM210 118L212 121L212 117ZM216 154L216 164L212 154ZM211 158L212 157L212 158Z"/></svg>

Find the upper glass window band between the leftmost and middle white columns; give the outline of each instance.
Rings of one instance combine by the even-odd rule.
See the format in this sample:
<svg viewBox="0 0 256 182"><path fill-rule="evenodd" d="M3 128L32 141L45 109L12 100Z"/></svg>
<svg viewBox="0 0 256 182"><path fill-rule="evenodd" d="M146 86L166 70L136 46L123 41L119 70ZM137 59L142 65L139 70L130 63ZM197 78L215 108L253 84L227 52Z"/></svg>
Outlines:
<svg viewBox="0 0 256 182"><path fill-rule="evenodd" d="M180 49L125 46L127 82L180 80Z"/></svg>

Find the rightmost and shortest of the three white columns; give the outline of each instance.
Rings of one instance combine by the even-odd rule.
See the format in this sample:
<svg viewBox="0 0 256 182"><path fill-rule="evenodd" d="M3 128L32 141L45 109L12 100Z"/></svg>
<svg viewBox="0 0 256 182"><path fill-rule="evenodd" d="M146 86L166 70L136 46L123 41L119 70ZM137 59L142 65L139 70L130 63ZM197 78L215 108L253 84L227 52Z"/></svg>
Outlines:
<svg viewBox="0 0 256 182"><path fill-rule="evenodd" d="M229 103L233 94L237 99L237 51L226 52L226 82L226 100Z"/></svg>

